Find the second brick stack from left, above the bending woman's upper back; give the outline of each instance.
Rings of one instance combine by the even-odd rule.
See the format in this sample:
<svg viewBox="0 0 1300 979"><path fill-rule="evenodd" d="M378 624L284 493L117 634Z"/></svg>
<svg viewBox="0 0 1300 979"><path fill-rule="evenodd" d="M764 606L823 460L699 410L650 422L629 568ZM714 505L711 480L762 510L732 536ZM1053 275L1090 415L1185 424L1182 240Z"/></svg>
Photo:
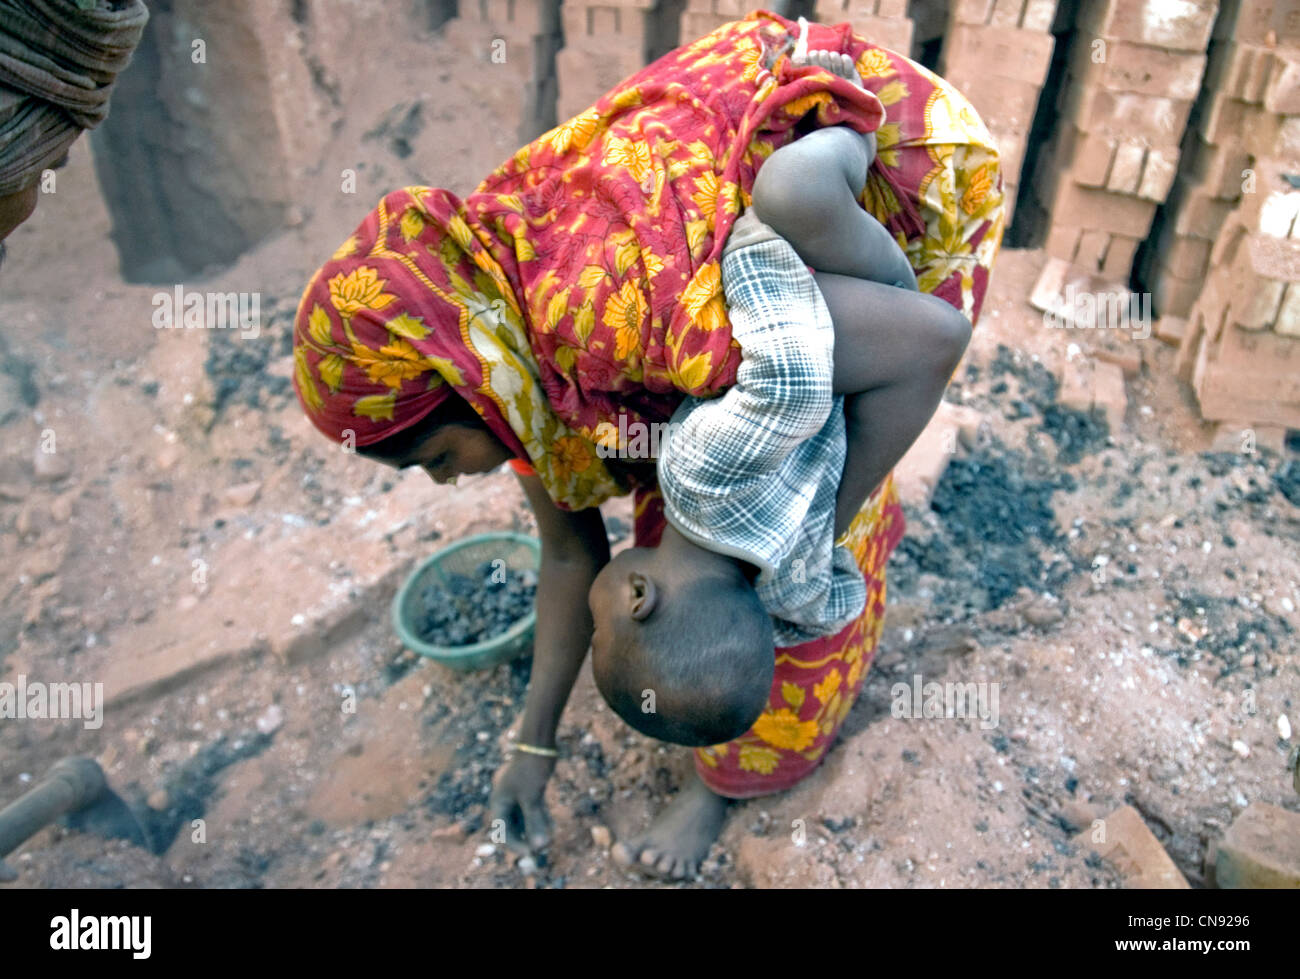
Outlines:
<svg viewBox="0 0 1300 979"><path fill-rule="evenodd" d="M662 5L663 0L564 0L564 48L555 59L556 114L562 121L577 116L653 60ZM740 0L733 5L738 8Z"/></svg>

